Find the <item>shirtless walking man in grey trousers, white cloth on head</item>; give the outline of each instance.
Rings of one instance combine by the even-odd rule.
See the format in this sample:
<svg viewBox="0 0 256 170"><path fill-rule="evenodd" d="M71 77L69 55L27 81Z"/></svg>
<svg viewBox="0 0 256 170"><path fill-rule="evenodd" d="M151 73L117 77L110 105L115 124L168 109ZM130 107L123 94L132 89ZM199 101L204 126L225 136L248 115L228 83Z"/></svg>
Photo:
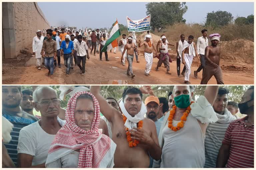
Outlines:
<svg viewBox="0 0 256 170"><path fill-rule="evenodd" d="M128 38L128 43L124 46L124 50L123 50L123 53L122 53L122 57L121 57L121 60L123 61L124 59L124 53L125 51L127 50L127 60L128 60L128 69L127 69L127 75L132 75L132 78L135 76L133 74L133 71L132 71L132 61L133 61L133 57L134 57L134 49L135 49L135 54L136 55L139 55L139 52L138 52L138 49L136 48L136 45L135 43L132 42L132 37L129 37ZM131 74L129 74L129 72Z"/></svg>

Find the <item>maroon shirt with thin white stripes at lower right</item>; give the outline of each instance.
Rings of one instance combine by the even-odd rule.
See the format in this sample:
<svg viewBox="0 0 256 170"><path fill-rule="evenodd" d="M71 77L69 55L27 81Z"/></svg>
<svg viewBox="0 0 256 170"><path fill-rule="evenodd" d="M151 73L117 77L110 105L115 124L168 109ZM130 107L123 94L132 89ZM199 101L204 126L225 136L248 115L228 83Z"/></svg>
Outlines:
<svg viewBox="0 0 256 170"><path fill-rule="evenodd" d="M230 145L227 168L254 167L254 125L248 127L245 119L248 116L229 124L223 144Z"/></svg>

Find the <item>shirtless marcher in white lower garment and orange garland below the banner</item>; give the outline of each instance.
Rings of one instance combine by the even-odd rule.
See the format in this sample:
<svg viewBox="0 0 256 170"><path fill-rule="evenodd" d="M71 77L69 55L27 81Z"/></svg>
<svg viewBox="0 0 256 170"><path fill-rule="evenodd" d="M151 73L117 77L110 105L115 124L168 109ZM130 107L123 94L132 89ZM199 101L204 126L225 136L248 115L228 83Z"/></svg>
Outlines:
<svg viewBox="0 0 256 170"><path fill-rule="evenodd" d="M153 49L155 50L156 54L158 53L156 51L154 43L150 41L150 35L146 35L146 41L141 42L141 40L139 40L139 47L141 47L142 45L144 45L145 47L145 50L144 50L144 57L146 60L145 76L150 76L149 72L151 70L152 63L153 63Z"/></svg>

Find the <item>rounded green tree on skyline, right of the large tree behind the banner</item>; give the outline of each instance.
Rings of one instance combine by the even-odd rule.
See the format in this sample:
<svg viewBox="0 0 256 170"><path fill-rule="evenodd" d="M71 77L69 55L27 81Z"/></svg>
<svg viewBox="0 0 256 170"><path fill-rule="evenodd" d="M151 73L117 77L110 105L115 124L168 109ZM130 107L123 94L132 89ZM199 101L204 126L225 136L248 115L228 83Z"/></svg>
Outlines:
<svg viewBox="0 0 256 170"><path fill-rule="evenodd" d="M225 26L232 22L234 17L227 11L212 11L207 13L205 26L211 26L213 28L218 28L220 26Z"/></svg>

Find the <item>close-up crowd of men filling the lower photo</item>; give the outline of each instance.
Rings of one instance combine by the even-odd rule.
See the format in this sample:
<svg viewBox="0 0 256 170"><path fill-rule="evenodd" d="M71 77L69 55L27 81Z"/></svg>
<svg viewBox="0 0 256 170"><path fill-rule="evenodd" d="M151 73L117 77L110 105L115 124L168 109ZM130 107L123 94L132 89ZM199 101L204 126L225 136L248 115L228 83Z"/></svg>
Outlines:
<svg viewBox="0 0 256 170"><path fill-rule="evenodd" d="M174 86L167 98L150 86L126 87L119 100L100 90L68 89L65 110L49 86L2 86L2 120L14 126L9 141L2 127L2 167L254 167L254 86L239 103L218 86L196 101L194 86ZM246 116L238 118L238 109Z"/></svg>

